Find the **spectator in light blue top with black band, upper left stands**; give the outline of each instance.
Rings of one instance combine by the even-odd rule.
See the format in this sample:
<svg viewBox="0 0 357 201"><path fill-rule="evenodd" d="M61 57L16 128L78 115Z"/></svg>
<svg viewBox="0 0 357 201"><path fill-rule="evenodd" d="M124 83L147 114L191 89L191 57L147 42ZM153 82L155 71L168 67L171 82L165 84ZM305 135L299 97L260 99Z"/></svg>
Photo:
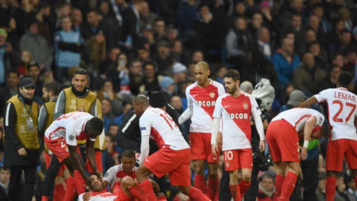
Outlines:
<svg viewBox="0 0 357 201"><path fill-rule="evenodd" d="M57 68L57 80L63 82L70 78L68 75L69 68L79 67L84 41L80 32L72 29L72 22L69 16L61 17L60 26L61 30L55 34L55 66Z"/></svg>

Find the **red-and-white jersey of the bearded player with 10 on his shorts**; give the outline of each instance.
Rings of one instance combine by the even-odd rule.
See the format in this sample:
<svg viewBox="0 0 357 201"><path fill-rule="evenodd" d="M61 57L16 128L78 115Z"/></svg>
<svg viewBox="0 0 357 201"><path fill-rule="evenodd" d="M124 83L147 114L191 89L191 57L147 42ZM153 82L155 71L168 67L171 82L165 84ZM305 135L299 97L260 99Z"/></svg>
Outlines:
<svg viewBox="0 0 357 201"><path fill-rule="evenodd" d="M251 148L250 117L260 114L258 103L250 94L220 96L213 117L219 119L222 115L222 150Z"/></svg>

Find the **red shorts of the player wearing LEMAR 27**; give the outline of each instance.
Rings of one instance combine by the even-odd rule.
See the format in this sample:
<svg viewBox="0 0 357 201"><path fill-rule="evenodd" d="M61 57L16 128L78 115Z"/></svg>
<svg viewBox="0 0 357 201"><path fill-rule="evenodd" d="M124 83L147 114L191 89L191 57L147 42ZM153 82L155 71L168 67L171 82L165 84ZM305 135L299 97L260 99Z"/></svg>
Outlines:
<svg viewBox="0 0 357 201"><path fill-rule="evenodd" d="M344 158L349 169L357 169L357 141L353 139L330 140L326 151L326 170L341 172Z"/></svg>

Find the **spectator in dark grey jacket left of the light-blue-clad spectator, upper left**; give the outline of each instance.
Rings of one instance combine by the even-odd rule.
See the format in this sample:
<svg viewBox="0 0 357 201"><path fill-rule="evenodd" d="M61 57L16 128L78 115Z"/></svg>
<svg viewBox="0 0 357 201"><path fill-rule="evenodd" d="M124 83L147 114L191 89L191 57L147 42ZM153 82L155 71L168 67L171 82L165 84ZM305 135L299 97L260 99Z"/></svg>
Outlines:
<svg viewBox="0 0 357 201"><path fill-rule="evenodd" d="M32 54L32 59L40 65L41 69L51 67L53 54L46 38L39 34L36 21L31 21L27 24L27 31L20 38L20 49L29 50Z"/></svg>

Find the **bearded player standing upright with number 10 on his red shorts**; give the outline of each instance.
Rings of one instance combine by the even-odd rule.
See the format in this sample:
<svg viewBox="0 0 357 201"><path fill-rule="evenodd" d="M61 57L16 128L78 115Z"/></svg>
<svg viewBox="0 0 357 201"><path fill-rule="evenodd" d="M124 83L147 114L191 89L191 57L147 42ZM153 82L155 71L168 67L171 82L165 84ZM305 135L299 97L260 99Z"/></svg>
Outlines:
<svg viewBox="0 0 357 201"><path fill-rule="evenodd" d="M234 201L240 201L250 187L253 167L251 148L250 117L254 119L260 136L259 151L265 149L265 135L261 112L258 103L250 94L239 89L240 75L238 70L228 70L224 75L228 93L218 97L213 112L211 146L212 154L218 157L217 134L222 117L222 150L226 171L230 174L230 190ZM242 178L238 185L238 170Z"/></svg>

